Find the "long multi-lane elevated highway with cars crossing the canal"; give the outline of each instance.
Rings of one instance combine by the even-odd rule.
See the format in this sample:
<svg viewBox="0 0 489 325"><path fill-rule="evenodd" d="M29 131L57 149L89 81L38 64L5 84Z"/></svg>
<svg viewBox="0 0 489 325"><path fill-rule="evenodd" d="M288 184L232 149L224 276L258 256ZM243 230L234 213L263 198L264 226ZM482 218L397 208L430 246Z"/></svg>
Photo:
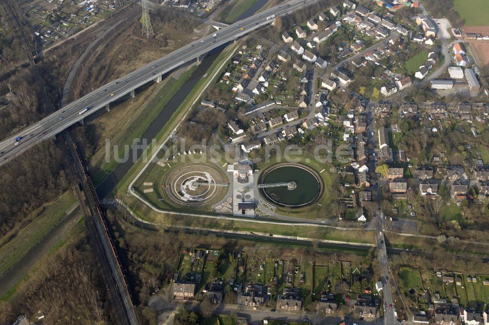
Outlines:
<svg viewBox="0 0 489 325"><path fill-rule="evenodd" d="M0 142L0 165L19 155L34 144L47 140L76 122L83 121L93 112L106 108L109 104L122 97L134 96L134 91L148 82L159 82L163 74L180 65L198 59L212 49L234 41L262 26L270 24L274 16L285 16L294 10L310 5L316 0L290 0L267 9L252 17L240 20L232 25L216 31L212 35L185 45L165 57L131 72L130 74L111 81L95 89L82 98L63 106L61 109L45 117ZM20 139L22 137L22 139Z"/></svg>

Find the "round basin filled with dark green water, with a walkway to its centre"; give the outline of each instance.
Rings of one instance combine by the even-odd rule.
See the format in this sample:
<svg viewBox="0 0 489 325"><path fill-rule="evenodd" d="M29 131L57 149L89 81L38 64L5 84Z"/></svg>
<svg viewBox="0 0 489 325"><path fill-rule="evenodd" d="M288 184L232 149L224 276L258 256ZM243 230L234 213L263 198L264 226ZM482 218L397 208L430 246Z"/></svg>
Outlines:
<svg viewBox="0 0 489 325"><path fill-rule="evenodd" d="M268 167L262 172L258 187L267 201L287 207L314 203L324 191L319 174L299 163L278 163Z"/></svg>

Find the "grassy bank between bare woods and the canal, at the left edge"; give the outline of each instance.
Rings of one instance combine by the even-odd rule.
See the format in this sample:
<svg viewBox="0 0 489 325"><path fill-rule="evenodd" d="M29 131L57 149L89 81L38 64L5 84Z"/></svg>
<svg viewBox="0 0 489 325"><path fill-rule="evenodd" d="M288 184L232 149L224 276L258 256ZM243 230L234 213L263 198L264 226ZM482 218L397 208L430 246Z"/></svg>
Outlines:
<svg viewBox="0 0 489 325"><path fill-rule="evenodd" d="M32 222L18 230L12 240L0 248L0 275L5 274L41 241L76 202L70 191L52 203L45 204L31 213Z"/></svg>

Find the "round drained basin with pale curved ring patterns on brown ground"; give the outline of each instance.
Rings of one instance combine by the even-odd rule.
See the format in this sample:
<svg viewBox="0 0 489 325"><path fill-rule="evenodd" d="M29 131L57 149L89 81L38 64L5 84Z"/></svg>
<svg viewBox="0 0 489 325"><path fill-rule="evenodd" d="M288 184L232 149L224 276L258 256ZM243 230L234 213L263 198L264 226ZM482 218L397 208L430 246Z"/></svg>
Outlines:
<svg viewBox="0 0 489 325"><path fill-rule="evenodd" d="M227 193L227 176L215 166L187 163L175 167L165 177L164 195L181 207L199 208L217 203Z"/></svg>

